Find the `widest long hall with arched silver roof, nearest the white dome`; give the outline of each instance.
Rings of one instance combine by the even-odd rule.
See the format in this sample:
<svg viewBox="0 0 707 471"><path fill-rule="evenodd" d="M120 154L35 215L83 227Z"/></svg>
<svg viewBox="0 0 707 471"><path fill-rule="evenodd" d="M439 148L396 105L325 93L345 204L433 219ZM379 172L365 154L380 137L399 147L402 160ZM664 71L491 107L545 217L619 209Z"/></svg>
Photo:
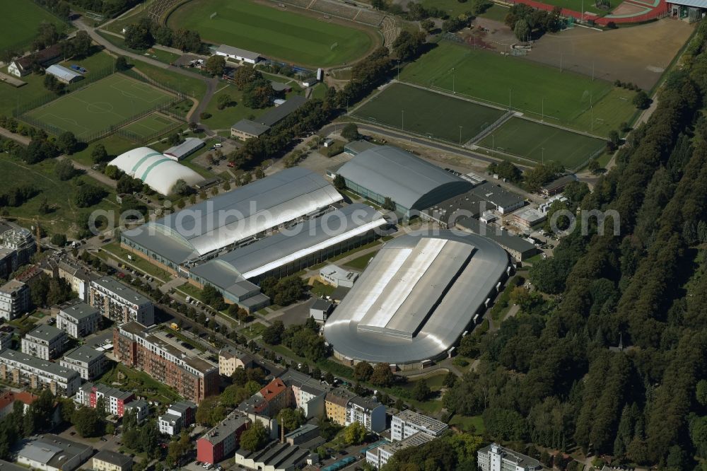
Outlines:
<svg viewBox="0 0 707 471"><path fill-rule="evenodd" d="M120 242L168 272L187 277L189 267L216 257L217 251L247 245L278 228L320 216L342 200L320 175L288 168L124 231Z"/></svg>

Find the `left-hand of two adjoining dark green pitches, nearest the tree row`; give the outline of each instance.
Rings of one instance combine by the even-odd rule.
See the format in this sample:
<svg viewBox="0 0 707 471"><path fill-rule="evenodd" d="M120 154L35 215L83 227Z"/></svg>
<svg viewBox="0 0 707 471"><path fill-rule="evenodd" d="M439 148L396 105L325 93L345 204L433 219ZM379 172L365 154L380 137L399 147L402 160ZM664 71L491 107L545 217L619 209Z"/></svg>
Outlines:
<svg viewBox="0 0 707 471"><path fill-rule="evenodd" d="M433 139L464 144L498 120L503 111L404 83L393 83L355 110L353 115Z"/></svg>

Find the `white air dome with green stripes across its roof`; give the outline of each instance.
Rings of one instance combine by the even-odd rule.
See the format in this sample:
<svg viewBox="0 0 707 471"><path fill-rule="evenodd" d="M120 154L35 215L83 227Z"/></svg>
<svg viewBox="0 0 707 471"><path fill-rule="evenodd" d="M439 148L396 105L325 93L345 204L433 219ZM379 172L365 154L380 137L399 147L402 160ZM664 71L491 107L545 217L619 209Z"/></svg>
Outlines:
<svg viewBox="0 0 707 471"><path fill-rule="evenodd" d="M149 147L139 147L114 158L108 165L115 165L133 178L139 178L160 194L170 194L177 180L195 185L204 177L191 168L165 157Z"/></svg>

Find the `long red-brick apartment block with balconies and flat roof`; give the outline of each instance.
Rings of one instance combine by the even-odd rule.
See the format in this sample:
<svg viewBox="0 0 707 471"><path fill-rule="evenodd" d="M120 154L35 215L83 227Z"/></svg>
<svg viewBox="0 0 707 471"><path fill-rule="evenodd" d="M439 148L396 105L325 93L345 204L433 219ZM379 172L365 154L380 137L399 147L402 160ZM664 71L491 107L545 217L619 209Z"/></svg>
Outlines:
<svg viewBox="0 0 707 471"><path fill-rule="evenodd" d="M218 366L206 354L185 349L160 327L127 322L113 332L113 354L118 361L139 368L188 400L201 402L218 394Z"/></svg>

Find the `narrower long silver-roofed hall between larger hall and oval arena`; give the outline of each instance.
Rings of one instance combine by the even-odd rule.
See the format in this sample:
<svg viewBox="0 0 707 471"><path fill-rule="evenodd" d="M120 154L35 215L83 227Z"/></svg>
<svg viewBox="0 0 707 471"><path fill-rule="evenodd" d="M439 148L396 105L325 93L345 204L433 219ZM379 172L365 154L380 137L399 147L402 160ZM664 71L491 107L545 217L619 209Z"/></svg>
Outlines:
<svg viewBox="0 0 707 471"><path fill-rule="evenodd" d="M253 283L286 277L361 247L380 236L387 224L372 207L351 204L198 264L189 270L189 281L199 288L210 284L227 301L252 310L257 300L250 299L257 289Z"/></svg>

